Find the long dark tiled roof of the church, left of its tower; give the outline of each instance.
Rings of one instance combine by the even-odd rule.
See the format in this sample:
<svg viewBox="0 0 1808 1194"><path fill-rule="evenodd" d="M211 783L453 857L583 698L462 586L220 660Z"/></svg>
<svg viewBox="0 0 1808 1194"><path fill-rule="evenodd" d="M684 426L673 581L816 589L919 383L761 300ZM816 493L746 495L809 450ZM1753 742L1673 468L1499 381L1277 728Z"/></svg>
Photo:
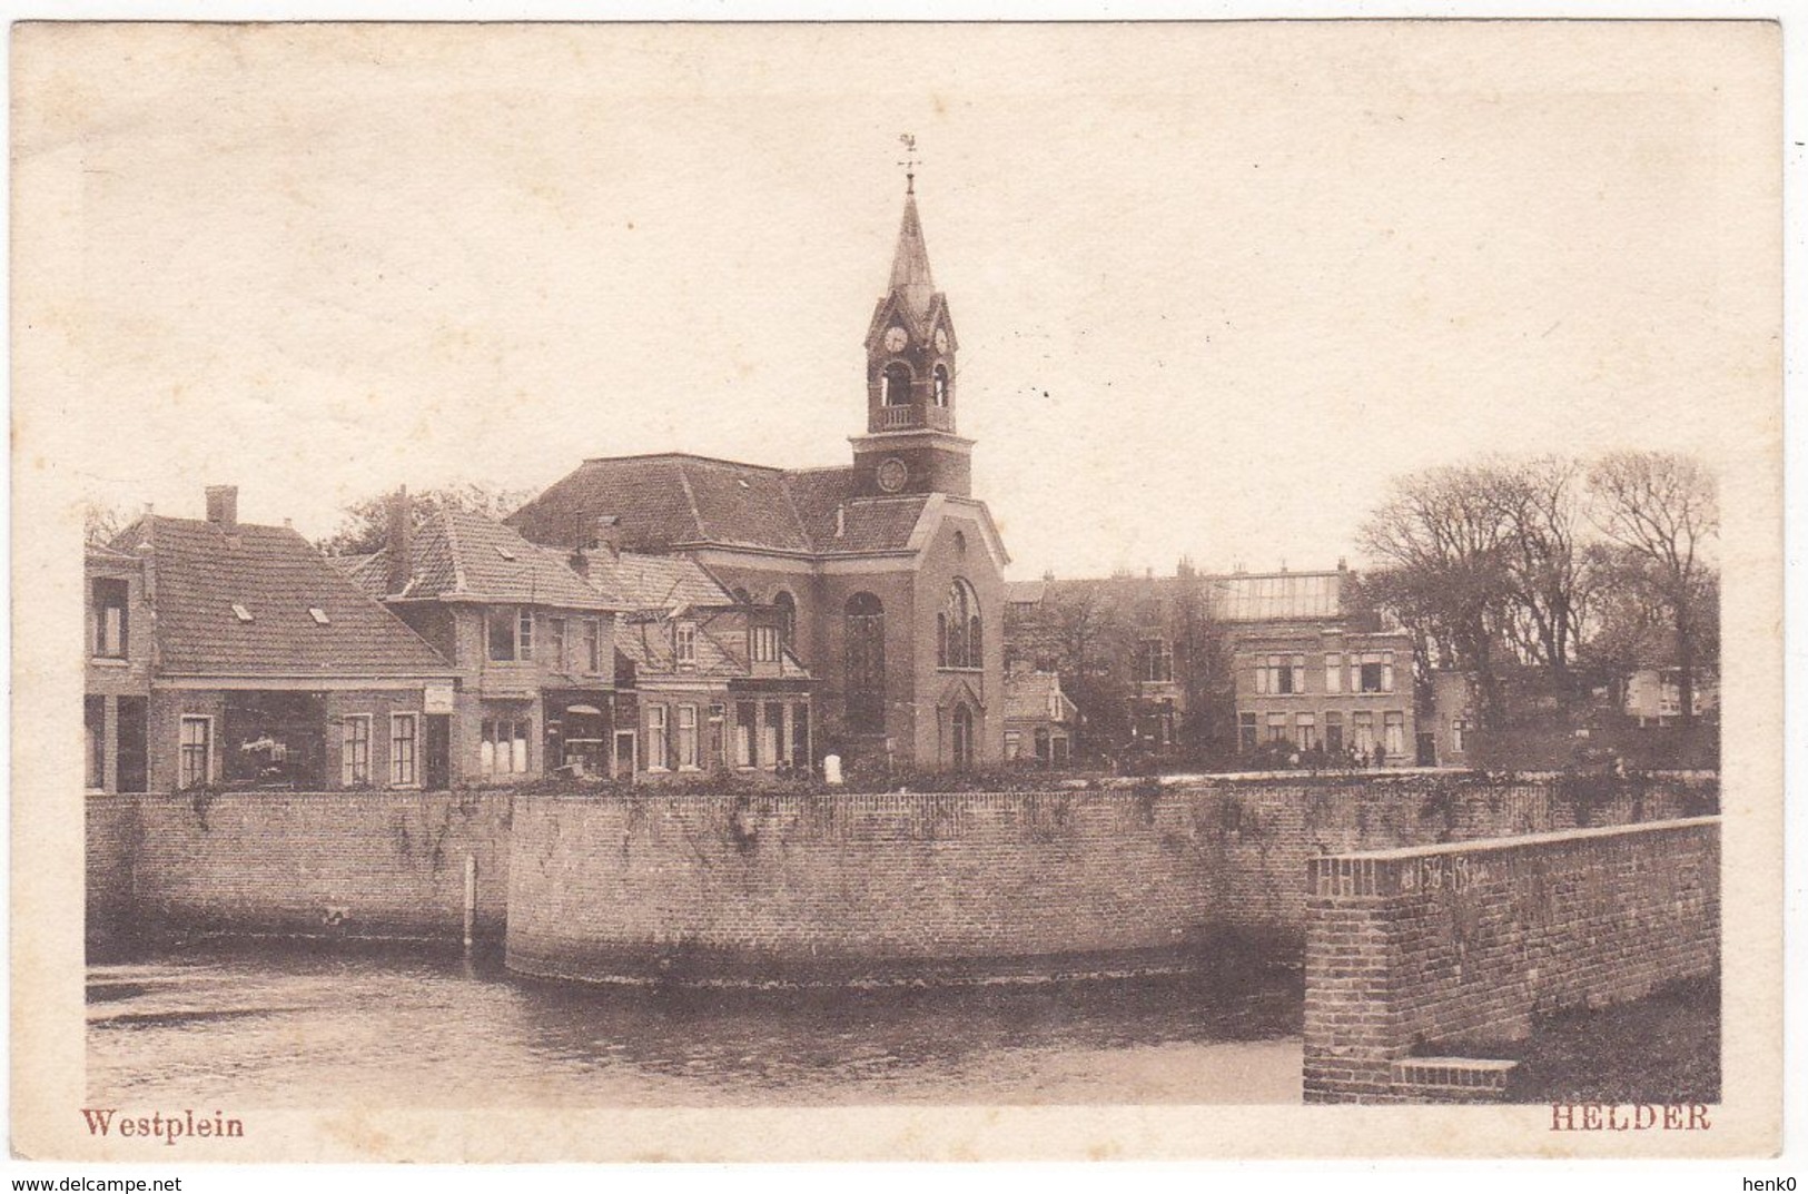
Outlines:
<svg viewBox="0 0 1808 1194"><path fill-rule="evenodd" d="M615 516L633 552L711 543L837 555L902 550L926 501L857 498L853 469L781 472L702 456L622 456L584 461L508 523L564 546L588 545L597 519Z"/></svg>

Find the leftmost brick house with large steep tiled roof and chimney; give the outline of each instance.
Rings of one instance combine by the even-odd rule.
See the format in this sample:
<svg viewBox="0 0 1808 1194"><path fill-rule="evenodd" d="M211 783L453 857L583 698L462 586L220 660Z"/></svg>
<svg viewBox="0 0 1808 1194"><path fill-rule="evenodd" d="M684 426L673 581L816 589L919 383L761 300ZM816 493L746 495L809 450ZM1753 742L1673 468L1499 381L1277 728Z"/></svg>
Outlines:
<svg viewBox="0 0 1808 1194"><path fill-rule="evenodd" d="M89 552L108 791L438 787L457 673L287 526L146 512ZM98 709L98 716L96 716ZM110 762L108 762L110 760Z"/></svg>

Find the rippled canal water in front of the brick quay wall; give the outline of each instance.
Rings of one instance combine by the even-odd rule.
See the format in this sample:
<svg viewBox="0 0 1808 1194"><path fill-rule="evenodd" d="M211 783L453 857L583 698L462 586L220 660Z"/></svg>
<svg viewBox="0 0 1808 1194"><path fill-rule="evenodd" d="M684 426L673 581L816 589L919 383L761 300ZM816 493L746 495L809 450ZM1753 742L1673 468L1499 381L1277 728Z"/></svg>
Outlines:
<svg viewBox="0 0 1808 1194"><path fill-rule="evenodd" d="M524 981L499 959L184 948L89 968L107 1105L1287 1104L1300 975L987 988Z"/></svg>

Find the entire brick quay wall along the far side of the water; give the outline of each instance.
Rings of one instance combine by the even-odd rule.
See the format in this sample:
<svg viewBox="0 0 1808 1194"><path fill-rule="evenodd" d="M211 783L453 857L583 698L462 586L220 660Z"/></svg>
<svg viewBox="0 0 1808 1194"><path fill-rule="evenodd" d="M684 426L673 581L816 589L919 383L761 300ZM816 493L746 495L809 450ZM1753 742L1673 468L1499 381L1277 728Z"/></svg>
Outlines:
<svg viewBox="0 0 1808 1194"><path fill-rule="evenodd" d="M89 796L90 943L143 933L457 941L524 970L859 977L942 961L1083 971L1197 961L1224 937L1296 957L1311 859L1665 818L1703 776L1468 772L826 796L213 792ZM519 876L512 870L521 870Z"/></svg>

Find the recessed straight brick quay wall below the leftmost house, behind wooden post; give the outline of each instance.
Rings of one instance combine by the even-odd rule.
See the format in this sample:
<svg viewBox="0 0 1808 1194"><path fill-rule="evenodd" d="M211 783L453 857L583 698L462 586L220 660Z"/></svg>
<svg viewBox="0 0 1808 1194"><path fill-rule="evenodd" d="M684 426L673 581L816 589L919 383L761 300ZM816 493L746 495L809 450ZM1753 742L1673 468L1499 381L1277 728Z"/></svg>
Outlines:
<svg viewBox="0 0 1808 1194"><path fill-rule="evenodd" d="M137 915L157 932L457 939L470 854L479 935L501 937L506 792L154 794L136 805Z"/></svg>

